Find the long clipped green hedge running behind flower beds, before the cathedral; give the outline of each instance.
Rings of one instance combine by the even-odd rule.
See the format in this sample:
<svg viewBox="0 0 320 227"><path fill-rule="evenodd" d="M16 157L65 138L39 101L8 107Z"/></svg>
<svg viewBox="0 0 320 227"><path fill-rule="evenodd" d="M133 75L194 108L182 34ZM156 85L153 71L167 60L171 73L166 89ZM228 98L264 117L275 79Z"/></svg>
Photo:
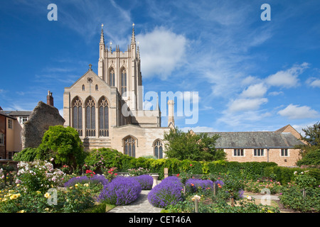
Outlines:
<svg viewBox="0 0 320 227"><path fill-rule="evenodd" d="M158 173L159 179L164 179L164 168L168 168L169 175L176 175L181 172L191 172L193 175L228 173L240 177L257 179L265 177L265 167L277 166L274 162L228 162L224 160L197 162L191 160L181 161L175 158L158 160L146 157L134 158L110 148L90 150L85 162L93 166L101 160L104 162L105 167L117 167L119 172L127 172L128 169L143 167L152 173Z"/></svg>

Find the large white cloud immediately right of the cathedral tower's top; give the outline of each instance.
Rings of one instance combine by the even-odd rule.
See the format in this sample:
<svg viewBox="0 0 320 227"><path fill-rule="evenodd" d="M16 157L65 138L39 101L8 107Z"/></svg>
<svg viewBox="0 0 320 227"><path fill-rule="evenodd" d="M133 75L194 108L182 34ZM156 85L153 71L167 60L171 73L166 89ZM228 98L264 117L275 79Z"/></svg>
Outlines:
<svg viewBox="0 0 320 227"><path fill-rule="evenodd" d="M142 75L166 79L184 61L187 40L164 27L136 35L142 58Z"/></svg>

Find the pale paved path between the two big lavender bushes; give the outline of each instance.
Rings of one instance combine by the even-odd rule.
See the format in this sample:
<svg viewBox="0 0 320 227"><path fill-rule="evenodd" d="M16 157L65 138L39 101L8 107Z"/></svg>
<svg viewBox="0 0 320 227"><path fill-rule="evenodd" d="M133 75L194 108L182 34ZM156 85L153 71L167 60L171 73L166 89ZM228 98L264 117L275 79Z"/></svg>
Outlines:
<svg viewBox="0 0 320 227"><path fill-rule="evenodd" d="M148 201L148 193L150 190L142 190L138 199L132 204L125 206L116 206L108 213L160 213L162 208L152 206Z"/></svg>

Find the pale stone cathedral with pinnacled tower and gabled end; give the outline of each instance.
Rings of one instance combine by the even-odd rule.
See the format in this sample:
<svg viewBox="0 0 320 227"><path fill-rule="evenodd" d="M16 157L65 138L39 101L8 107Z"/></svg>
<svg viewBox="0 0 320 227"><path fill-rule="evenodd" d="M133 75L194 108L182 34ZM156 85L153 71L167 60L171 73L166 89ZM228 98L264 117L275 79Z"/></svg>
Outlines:
<svg viewBox="0 0 320 227"><path fill-rule="evenodd" d="M144 110L139 46L134 25L127 51L108 50L103 25L97 74L92 65L63 93L64 126L75 128L86 149L113 148L132 157L164 157L164 132L174 127L174 101L169 122L161 127L159 103Z"/></svg>

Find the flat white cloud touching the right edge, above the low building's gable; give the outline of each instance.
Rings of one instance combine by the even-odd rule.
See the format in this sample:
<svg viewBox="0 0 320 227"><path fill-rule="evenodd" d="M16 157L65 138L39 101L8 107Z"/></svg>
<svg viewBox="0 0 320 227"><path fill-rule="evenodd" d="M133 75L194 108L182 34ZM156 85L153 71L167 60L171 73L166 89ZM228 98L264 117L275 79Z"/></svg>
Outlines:
<svg viewBox="0 0 320 227"><path fill-rule="evenodd" d="M289 104L286 108L278 111L278 114L289 119L317 118L320 116L318 111L311 109L309 106L298 106L293 104Z"/></svg>

